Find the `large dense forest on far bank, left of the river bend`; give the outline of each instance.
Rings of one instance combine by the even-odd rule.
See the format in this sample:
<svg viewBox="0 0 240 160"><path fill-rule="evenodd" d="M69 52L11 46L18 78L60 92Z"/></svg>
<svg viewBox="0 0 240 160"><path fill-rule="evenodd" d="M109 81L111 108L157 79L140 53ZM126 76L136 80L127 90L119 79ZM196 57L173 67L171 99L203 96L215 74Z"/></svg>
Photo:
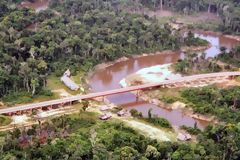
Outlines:
<svg viewBox="0 0 240 160"><path fill-rule="evenodd" d="M46 85L46 77L73 73L81 66L123 55L178 49L180 37L156 19L130 15L105 1L71 0L35 13L1 1L0 97L16 91L32 95ZM36 31L26 27L38 23Z"/></svg>

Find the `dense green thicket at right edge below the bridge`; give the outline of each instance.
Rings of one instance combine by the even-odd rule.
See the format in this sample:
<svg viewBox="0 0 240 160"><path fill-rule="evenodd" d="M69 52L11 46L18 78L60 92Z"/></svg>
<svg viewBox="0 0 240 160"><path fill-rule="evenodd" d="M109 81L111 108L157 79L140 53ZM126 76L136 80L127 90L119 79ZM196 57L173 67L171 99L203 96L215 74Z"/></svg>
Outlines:
<svg viewBox="0 0 240 160"><path fill-rule="evenodd" d="M184 89L181 97L197 113L215 115L221 121L236 123L240 120L239 93L239 86L226 89L208 86Z"/></svg>

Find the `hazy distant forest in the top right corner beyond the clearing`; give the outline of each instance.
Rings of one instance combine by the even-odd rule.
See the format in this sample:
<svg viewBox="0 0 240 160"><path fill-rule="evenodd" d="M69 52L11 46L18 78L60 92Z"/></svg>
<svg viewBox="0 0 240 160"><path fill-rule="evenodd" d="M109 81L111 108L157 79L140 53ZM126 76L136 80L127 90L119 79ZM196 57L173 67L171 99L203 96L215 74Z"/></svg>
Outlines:
<svg viewBox="0 0 240 160"><path fill-rule="evenodd" d="M226 33L240 32L239 0L138 0L151 9L170 9L185 14L207 11L220 16L223 25L219 26Z"/></svg>

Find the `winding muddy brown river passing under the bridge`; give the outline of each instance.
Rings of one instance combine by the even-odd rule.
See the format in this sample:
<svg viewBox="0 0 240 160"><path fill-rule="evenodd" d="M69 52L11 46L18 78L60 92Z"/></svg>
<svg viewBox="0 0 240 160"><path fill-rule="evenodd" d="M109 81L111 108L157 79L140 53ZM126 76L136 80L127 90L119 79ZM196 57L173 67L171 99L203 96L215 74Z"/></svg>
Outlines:
<svg viewBox="0 0 240 160"><path fill-rule="evenodd" d="M207 57L214 57L219 54L219 48L221 46L231 49L236 44L239 44L239 42L234 39L219 36L214 33L196 33L195 36L205 39L211 43L212 47L205 50ZM92 92L120 88L120 80L129 74L137 72L142 68L154 65L174 63L183 57L184 54L181 52L171 52L166 54L130 58L126 61L114 63L103 70L95 71L89 79L89 84ZM137 100L136 96L132 93L112 95L108 96L107 99L114 104L123 106L127 110L136 109L142 112L145 117L148 115L148 110L152 108L153 114L166 118L174 126L186 125L193 127L194 124L197 123L197 126L202 129L209 124L207 121L194 119L189 115L184 114L181 109L167 110L148 102Z"/></svg>

